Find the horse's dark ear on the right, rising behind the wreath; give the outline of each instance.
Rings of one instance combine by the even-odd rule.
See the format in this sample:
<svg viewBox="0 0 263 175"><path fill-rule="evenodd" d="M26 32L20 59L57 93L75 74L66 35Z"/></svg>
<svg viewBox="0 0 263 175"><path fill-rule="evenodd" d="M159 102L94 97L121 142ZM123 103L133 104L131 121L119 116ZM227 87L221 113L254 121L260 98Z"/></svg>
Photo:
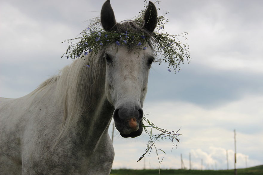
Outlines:
<svg viewBox="0 0 263 175"><path fill-rule="evenodd" d="M144 14L143 28L153 32L157 24L157 18L158 16L156 7L151 1L149 1L148 7Z"/></svg>

